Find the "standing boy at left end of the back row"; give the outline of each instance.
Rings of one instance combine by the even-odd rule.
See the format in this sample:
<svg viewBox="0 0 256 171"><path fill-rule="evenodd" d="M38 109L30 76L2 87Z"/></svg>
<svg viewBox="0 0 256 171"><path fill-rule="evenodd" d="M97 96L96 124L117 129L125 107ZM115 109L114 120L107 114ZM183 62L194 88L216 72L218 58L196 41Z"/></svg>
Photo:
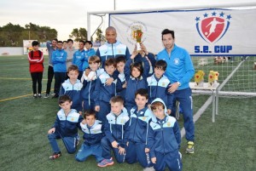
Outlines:
<svg viewBox="0 0 256 171"><path fill-rule="evenodd" d="M61 84L60 96L67 94L73 101L71 108L77 110L79 113L82 112L82 97L81 89L83 84L78 79L79 68L78 66L71 65L67 68L67 79Z"/></svg>

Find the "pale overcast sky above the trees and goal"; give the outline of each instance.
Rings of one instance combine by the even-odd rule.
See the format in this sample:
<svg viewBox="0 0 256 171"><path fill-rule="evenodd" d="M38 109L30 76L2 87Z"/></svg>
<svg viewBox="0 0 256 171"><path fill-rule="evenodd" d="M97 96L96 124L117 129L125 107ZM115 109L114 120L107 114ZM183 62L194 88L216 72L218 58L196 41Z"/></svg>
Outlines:
<svg viewBox="0 0 256 171"><path fill-rule="evenodd" d="M256 0L116 0L117 10L127 9L161 9L175 6L193 6L211 4L256 2ZM73 28L87 27L88 11L113 10L113 0L1 0L0 1L0 26L11 22L25 26L29 22L39 26L50 26L58 31L58 38L67 39ZM108 18L106 18L108 19ZM100 23L96 17L91 20L91 31ZM108 26L108 21L103 23L102 29ZM87 29L87 28L86 28Z"/></svg>

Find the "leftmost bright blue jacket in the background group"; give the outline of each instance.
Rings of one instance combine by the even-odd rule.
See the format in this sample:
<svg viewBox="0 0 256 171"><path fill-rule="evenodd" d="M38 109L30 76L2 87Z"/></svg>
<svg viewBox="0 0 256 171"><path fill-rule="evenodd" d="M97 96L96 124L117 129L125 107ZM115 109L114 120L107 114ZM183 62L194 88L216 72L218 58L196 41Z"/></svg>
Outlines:
<svg viewBox="0 0 256 171"><path fill-rule="evenodd" d="M55 72L67 72L67 52L64 49L56 49L52 52L51 60Z"/></svg>

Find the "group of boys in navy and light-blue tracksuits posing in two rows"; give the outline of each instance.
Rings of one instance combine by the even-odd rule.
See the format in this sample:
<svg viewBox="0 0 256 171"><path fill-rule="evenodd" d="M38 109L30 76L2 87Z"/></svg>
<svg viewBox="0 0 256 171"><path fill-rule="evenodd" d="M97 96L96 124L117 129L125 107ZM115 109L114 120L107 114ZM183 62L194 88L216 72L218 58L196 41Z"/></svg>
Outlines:
<svg viewBox="0 0 256 171"><path fill-rule="evenodd" d="M120 49L119 54L106 53L110 46ZM164 75L167 63L136 50L130 56L127 49L119 42L100 47L97 55L90 56L81 80L78 66L67 68L69 78L60 89L61 110L48 132L54 151L50 159L61 157L59 138L68 153L76 151L79 128L84 133L75 156L79 162L92 155L97 166L107 167L113 165L113 151L119 163L182 170L181 134L175 117L169 116L173 97Z"/></svg>

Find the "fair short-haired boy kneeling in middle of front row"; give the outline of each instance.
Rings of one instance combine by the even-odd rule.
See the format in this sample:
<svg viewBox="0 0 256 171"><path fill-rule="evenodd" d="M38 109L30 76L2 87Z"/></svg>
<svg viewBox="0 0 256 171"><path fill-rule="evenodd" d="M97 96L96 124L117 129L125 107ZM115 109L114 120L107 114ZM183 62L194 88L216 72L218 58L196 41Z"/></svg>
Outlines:
<svg viewBox="0 0 256 171"><path fill-rule="evenodd" d="M98 163L99 167L113 165L111 150L117 162L125 162L125 149L128 140L129 117L124 107L124 100L117 95L111 98L111 111L105 123L106 136L102 139L102 157L105 160Z"/></svg>

